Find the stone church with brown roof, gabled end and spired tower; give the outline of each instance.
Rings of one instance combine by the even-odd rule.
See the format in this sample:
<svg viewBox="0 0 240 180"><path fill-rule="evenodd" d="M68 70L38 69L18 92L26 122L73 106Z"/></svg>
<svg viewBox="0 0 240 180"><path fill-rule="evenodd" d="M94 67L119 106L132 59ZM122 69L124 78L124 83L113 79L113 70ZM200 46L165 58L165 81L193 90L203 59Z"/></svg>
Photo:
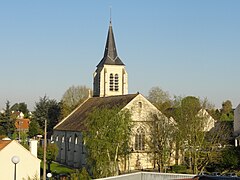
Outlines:
<svg viewBox="0 0 240 180"><path fill-rule="evenodd" d="M153 122L152 115L164 115L140 93L128 94L128 73L117 53L111 21L103 58L93 74L93 97L85 100L54 127L52 141L59 147L58 162L74 168L86 166L84 122L94 109L106 105L128 109L134 124L130 143L132 151L125 166L127 169L120 165L120 170L154 168L156 164L152 160L146 138L151 132L149 124ZM166 116L164 118L167 119Z"/></svg>

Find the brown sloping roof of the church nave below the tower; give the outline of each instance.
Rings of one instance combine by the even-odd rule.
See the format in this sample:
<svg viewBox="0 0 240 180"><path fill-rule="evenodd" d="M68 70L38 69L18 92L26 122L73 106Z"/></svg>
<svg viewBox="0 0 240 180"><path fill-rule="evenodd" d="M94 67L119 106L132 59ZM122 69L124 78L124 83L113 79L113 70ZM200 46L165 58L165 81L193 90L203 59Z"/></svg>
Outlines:
<svg viewBox="0 0 240 180"><path fill-rule="evenodd" d="M128 94L109 97L92 97L78 106L69 116L58 123L54 130L59 131L82 131L88 115L97 108L124 108L138 94Z"/></svg>

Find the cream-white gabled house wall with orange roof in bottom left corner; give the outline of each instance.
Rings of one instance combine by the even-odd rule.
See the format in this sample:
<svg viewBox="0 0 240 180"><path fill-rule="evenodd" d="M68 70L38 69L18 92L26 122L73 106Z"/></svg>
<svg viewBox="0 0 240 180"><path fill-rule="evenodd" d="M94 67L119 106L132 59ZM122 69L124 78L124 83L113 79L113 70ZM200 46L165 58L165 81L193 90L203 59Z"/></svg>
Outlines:
<svg viewBox="0 0 240 180"><path fill-rule="evenodd" d="M35 151L36 148L32 148ZM0 140L0 179L14 179L15 164L12 158L17 156L16 178L40 179L41 160L15 140Z"/></svg>

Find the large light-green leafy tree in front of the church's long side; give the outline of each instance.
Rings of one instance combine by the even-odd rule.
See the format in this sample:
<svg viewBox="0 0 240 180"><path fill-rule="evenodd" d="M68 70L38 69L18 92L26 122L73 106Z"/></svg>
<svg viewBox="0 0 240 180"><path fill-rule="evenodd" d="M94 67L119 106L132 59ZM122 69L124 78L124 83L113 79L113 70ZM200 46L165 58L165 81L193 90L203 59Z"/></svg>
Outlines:
<svg viewBox="0 0 240 180"><path fill-rule="evenodd" d="M118 161L130 149L130 113L118 108L96 109L86 123L85 142L94 177L118 174Z"/></svg>

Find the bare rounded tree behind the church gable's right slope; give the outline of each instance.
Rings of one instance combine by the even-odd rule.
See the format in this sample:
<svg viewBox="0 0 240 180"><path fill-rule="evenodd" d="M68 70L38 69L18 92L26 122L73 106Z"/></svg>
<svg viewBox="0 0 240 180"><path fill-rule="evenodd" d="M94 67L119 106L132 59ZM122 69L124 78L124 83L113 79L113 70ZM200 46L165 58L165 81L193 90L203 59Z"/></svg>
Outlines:
<svg viewBox="0 0 240 180"><path fill-rule="evenodd" d="M160 87L152 87L148 92L147 99L161 111L171 107L169 93L163 91Z"/></svg>

